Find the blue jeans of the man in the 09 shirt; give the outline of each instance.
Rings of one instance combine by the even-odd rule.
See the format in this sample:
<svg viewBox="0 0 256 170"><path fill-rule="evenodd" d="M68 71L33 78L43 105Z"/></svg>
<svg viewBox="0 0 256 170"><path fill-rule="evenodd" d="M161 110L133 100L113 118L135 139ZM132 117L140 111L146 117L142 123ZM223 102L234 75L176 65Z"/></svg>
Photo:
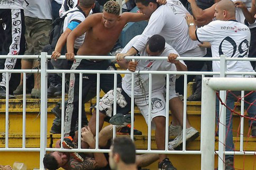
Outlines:
<svg viewBox="0 0 256 170"><path fill-rule="evenodd" d="M241 92L239 91L232 91L236 96L241 95ZM244 95L248 94L249 92L244 92ZM250 106L250 104L244 102L245 109L248 109L248 115L249 117L256 117L256 93L253 92L252 94L246 96L244 98L244 101L249 102L250 104L252 103L253 105ZM237 101L236 97L233 96L231 93L227 92L227 97L226 97L226 105L230 109L234 109L234 101ZM225 101L223 101L225 102ZM219 105L220 101L216 97L216 123L218 123L218 117L219 117ZM250 107L249 107L250 106ZM249 120L249 126L251 125L256 125L256 121L251 121ZM229 109L226 108L226 149L225 151L234 151L234 143L233 143L233 115ZM226 159L232 159L234 156L233 155L226 155Z"/></svg>

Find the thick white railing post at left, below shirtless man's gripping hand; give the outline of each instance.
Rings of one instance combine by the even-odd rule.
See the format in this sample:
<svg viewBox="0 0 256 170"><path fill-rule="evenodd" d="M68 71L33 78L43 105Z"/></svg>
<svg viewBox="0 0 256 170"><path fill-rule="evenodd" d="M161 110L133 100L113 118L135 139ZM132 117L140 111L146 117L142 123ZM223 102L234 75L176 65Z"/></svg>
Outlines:
<svg viewBox="0 0 256 170"><path fill-rule="evenodd" d="M40 169L47 145L47 53L41 53L41 103L40 103Z"/></svg>

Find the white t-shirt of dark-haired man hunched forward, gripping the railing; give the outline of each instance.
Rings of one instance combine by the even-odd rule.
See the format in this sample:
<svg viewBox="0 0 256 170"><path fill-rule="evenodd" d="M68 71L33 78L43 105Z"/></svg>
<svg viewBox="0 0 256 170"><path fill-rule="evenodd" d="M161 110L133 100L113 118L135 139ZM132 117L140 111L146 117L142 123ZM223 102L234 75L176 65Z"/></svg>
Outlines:
<svg viewBox="0 0 256 170"><path fill-rule="evenodd" d="M132 45L138 41L141 35L135 36L131 41L124 47L123 51L121 53L126 53ZM148 56L145 48L139 52L141 56ZM175 49L173 49L170 45L166 43L166 47L163 51L163 53L160 56L168 56L170 53L178 54ZM183 62L184 63L184 62ZM184 64L185 65L185 64ZM168 63L165 60L138 60L138 66L136 68L136 71L177 71L175 64ZM141 85L140 80L141 79ZM148 74L138 74L134 75L134 97L141 97L143 94L148 95L149 94L149 75ZM166 75L165 74L152 74L152 92L161 91L163 92L166 88ZM175 79L175 75L170 75L170 79L173 78L173 81ZM125 76L122 78L122 88L124 89L124 92L131 97L131 89L132 89L132 75L131 74L125 74ZM143 91L142 92L142 87Z"/></svg>

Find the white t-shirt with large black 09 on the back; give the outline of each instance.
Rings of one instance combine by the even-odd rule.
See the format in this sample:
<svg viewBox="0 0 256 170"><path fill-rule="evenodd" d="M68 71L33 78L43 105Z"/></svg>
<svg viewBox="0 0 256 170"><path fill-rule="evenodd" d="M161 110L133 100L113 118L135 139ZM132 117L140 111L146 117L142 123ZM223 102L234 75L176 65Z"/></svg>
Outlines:
<svg viewBox="0 0 256 170"><path fill-rule="evenodd" d="M213 21L196 30L200 42L211 43L212 56L248 57L250 29L236 21ZM213 61L213 71L220 72L220 61ZM254 72L249 61L227 61L227 72ZM241 77L239 75L228 77Z"/></svg>

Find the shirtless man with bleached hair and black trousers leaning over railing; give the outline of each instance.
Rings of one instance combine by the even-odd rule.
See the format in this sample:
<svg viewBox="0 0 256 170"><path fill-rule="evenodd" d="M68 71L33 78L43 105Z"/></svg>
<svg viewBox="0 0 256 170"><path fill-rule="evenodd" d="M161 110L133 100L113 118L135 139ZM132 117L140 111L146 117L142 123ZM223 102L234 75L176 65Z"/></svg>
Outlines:
<svg viewBox="0 0 256 170"><path fill-rule="evenodd" d="M67 38L66 58L74 60L74 42L77 37L86 33L84 44L79 48L77 55L107 55L117 41L123 27L128 22L138 22L148 19L148 16L139 13L120 14L120 6L115 1L108 1L104 5L103 13L88 16L84 22L80 23ZM77 59L71 69L114 69L110 67L109 60ZM96 85L96 74L83 75L82 98L87 96L90 88ZM113 89L113 74L100 77L100 88L106 93ZM79 96L79 75L70 75L69 101L66 110L64 135L70 136L65 138L63 145L72 142L74 137L74 128L78 118L78 96ZM117 83L121 82L120 80ZM82 101L83 103L83 101ZM82 108L84 109L84 108ZM93 115L95 117L95 115ZM95 135L95 127L90 127Z"/></svg>

